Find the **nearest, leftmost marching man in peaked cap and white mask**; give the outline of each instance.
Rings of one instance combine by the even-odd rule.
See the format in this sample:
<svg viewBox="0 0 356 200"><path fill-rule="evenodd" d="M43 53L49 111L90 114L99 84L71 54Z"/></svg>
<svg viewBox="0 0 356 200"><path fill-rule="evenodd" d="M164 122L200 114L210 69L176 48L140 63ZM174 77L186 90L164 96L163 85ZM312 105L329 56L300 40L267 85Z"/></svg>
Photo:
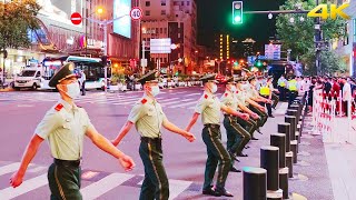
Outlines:
<svg viewBox="0 0 356 200"><path fill-rule="evenodd" d="M86 110L75 104L75 99L80 96L80 89L73 69L75 63L67 63L49 81L50 87L57 87L61 99L37 126L19 170L10 179L13 188L22 183L24 172L44 139L49 141L53 157L53 163L48 170L48 182L52 200L82 199L79 190L85 136L90 138L98 148L119 159L126 171L135 167L130 157L123 154L109 140L98 133L91 124Z"/></svg>

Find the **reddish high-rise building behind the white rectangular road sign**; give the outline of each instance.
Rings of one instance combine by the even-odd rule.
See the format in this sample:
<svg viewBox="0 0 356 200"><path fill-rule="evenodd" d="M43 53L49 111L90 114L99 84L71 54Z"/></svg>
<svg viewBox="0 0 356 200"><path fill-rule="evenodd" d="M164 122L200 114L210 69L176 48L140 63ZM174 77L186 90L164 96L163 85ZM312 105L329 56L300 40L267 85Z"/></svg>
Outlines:
<svg viewBox="0 0 356 200"><path fill-rule="evenodd" d="M149 54L150 61L170 70L191 73L196 66L195 52L197 39L196 0L140 0L144 17L141 20L141 40L170 38L176 44L171 53ZM184 63L178 63L182 59Z"/></svg>

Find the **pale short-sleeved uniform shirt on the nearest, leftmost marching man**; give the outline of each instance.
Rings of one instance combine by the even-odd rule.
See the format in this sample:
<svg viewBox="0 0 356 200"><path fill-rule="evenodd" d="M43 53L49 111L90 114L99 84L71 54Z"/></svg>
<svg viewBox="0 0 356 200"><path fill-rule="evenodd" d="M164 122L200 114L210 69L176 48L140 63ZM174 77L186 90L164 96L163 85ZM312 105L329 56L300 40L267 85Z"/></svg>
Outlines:
<svg viewBox="0 0 356 200"><path fill-rule="evenodd" d="M89 128L95 129L85 109L60 100L46 113L34 133L48 140L53 158L78 160Z"/></svg>

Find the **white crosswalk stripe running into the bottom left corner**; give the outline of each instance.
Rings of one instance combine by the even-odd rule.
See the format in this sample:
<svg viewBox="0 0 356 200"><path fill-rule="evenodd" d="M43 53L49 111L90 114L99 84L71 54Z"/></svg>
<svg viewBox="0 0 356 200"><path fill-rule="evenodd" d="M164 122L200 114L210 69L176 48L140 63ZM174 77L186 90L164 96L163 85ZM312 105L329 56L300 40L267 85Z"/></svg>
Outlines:
<svg viewBox="0 0 356 200"><path fill-rule="evenodd" d="M23 181L22 184L19 186L18 188L9 187L3 190L0 190L0 199L1 200L12 199L46 184L48 184L47 173L29 179L27 181Z"/></svg>

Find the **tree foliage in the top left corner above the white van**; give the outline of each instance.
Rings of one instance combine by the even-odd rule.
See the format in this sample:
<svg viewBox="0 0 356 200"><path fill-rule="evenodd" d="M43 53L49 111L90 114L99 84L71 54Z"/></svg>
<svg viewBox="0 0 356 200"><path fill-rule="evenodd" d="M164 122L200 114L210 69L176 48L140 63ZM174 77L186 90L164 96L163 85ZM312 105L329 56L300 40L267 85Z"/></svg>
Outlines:
<svg viewBox="0 0 356 200"><path fill-rule="evenodd" d="M0 48L28 48L28 30L39 28L39 10L36 0L0 1Z"/></svg>

